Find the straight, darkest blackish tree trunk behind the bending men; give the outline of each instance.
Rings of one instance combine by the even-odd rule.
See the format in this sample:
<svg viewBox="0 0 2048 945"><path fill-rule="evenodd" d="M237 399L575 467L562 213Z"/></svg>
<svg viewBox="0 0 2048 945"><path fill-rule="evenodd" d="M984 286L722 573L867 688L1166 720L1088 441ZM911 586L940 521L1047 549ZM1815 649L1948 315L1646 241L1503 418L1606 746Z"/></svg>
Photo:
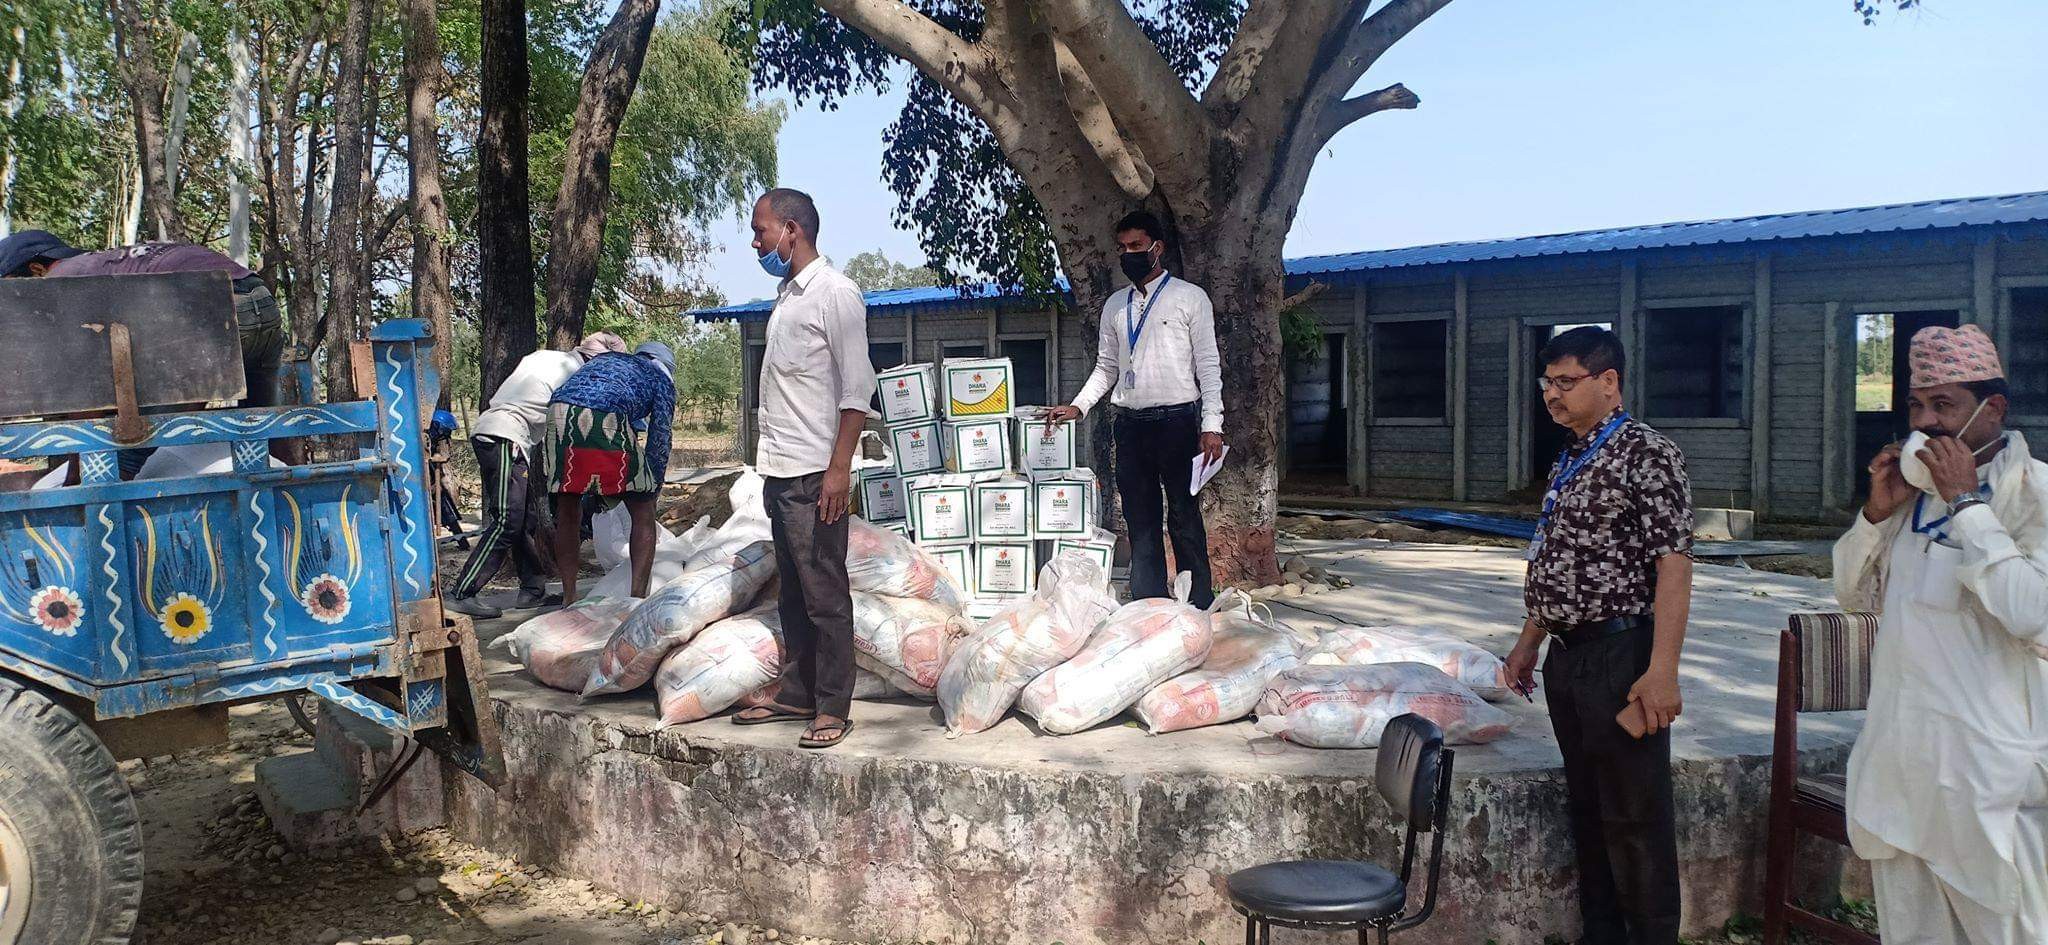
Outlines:
<svg viewBox="0 0 2048 945"><path fill-rule="evenodd" d="M489 402L541 332L532 310L526 195L526 0L483 0L483 127L477 129L477 269Z"/></svg>

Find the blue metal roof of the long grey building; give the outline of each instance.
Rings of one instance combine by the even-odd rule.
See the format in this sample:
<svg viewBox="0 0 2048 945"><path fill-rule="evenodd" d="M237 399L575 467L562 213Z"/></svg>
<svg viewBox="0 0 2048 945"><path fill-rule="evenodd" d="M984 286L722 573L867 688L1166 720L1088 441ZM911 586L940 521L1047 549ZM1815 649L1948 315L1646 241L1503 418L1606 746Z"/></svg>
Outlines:
<svg viewBox="0 0 2048 945"><path fill-rule="evenodd" d="M1456 262L2019 223L2048 225L2048 191L2003 197L1888 203L1882 207L1769 213L1761 217L1700 219L1690 223L1655 223L1618 230L1587 230L1554 236L1520 236L1511 240L1446 242L1436 246L1409 246L1401 250L1339 252L1331 256L1300 256L1286 260L1286 275L1290 277L1290 283L1294 283L1303 277L1442 266ZM1061 283L1061 289L1065 289L1065 281ZM993 285L971 285L965 287L965 295L961 289L946 287L870 291L866 293L868 316L967 312L989 305L1024 305L1032 301L1022 295L1001 295ZM696 310L690 312L690 316L700 320L762 322L768 318L768 310L772 307L774 299L760 299L739 305Z"/></svg>

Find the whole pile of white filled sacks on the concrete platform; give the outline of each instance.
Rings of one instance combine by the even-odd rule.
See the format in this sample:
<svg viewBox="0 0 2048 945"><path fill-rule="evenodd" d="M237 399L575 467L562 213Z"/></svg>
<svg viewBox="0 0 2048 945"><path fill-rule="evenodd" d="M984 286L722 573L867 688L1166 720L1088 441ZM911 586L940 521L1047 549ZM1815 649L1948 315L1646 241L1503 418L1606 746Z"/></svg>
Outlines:
<svg viewBox="0 0 2048 945"><path fill-rule="evenodd" d="M659 533L651 590L633 599L623 519L596 523L612 570L573 607L500 640L543 685L586 697L653 685L659 724L700 722L764 705L791 670L774 547L752 469L733 486L733 517L713 529ZM1073 734L1122 711L1151 734L1257 715L1253 730L1315 748L1374 748L1386 722L1419 713L1450 742L1485 742L1511 715L1505 664L1430 627L1333 627L1296 635L1272 613L1225 592L1118 607L1100 560L1065 551L1036 590L991 619L967 617L946 566L903 535L850 521L856 699L938 701L946 736L983 732L1012 707L1047 734Z"/></svg>

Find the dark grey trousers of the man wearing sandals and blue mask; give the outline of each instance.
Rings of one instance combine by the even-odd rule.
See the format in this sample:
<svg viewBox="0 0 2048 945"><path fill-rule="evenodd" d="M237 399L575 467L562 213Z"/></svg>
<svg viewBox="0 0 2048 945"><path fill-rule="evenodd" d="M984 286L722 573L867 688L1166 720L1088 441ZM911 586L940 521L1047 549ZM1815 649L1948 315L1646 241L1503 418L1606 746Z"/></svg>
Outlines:
<svg viewBox="0 0 2048 945"><path fill-rule="evenodd" d="M825 474L764 480L762 504L780 578L782 674L776 701L848 717L854 699L854 594L846 586L846 519L817 521Z"/></svg>

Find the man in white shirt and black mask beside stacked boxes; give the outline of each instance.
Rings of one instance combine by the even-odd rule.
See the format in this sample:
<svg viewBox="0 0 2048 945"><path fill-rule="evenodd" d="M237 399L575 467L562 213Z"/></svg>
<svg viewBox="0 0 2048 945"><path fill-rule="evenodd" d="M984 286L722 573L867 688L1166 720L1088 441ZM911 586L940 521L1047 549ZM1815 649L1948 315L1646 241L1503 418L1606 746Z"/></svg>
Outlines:
<svg viewBox="0 0 2048 945"><path fill-rule="evenodd" d="M1116 223L1118 264L1130 287L1102 303L1096 371L1053 420L1075 420L1104 394L1116 406L1116 494L1130 535L1130 599L1167 597L1161 492L1174 564L1192 574L1190 603L1208 607L1208 531L1188 492L1194 455L1223 455L1223 363L1208 293L1163 269L1165 228L1137 211Z"/></svg>

